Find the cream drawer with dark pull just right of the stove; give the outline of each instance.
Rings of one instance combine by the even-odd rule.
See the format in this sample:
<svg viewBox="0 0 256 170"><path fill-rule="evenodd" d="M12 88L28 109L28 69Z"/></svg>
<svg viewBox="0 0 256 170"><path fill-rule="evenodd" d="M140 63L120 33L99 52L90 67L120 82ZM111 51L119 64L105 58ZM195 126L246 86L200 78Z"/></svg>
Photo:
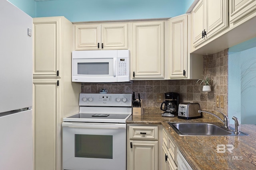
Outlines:
<svg viewBox="0 0 256 170"><path fill-rule="evenodd" d="M158 127L157 126L130 126L129 137L130 139L157 140Z"/></svg>

